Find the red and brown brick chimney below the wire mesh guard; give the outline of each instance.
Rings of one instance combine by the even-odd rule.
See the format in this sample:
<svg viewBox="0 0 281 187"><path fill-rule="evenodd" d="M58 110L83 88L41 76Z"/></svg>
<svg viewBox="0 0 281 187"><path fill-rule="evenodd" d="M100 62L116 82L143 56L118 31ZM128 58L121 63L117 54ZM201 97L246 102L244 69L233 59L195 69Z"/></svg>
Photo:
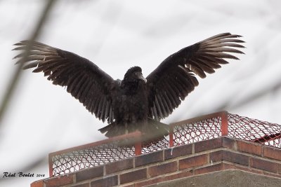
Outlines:
<svg viewBox="0 0 281 187"><path fill-rule="evenodd" d="M206 121L206 118L201 116L200 121ZM256 143L256 139L244 141L223 136L178 146L171 146L170 141L170 148L159 148L103 165L74 172L69 169L66 174L54 174L51 170L50 174L57 176L34 181L31 186L280 186L281 149Z"/></svg>

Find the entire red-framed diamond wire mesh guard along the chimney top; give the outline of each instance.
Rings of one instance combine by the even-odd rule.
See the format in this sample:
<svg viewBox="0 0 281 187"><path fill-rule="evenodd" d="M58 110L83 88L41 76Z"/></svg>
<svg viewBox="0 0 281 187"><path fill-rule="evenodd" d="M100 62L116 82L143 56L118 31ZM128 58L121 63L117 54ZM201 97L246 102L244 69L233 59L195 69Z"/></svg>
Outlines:
<svg viewBox="0 0 281 187"><path fill-rule="evenodd" d="M158 142L145 144L143 147L141 144L124 146L128 142L131 145L136 143L136 139L141 136L140 132L133 132L105 141L50 153L50 176L104 165L108 162L133 157L139 153L151 153L168 148L169 145L192 144L222 135L281 148L280 125L222 111L173 123L170 125L169 137L171 139L164 138Z"/></svg>

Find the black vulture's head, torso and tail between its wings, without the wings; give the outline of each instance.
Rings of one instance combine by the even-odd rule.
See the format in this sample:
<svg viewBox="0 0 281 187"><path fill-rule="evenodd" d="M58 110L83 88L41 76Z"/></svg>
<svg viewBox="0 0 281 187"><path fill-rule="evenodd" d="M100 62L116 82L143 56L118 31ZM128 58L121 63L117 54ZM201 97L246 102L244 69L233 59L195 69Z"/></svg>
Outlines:
<svg viewBox="0 0 281 187"><path fill-rule="evenodd" d="M143 139L158 139L168 134L168 125L149 118L149 100L146 79L141 67L132 67L121 83L115 81L111 90L115 120L100 129L107 137L128 134L136 130L143 132ZM131 77L133 76L133 77Z"/></svg>

